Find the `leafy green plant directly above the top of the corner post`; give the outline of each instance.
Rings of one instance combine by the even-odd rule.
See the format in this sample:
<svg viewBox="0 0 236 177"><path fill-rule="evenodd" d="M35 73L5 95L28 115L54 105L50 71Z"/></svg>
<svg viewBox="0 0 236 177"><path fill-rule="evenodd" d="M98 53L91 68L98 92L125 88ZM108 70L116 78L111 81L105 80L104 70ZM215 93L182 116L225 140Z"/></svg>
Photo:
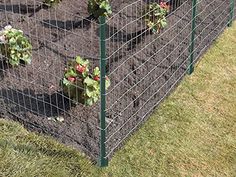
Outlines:
<svg viewBox="0 0 236 177"><path fill-rule="evenodd" d="M89 0L88 12L95 18L109 16L112 13L109 0Z"/></svg>

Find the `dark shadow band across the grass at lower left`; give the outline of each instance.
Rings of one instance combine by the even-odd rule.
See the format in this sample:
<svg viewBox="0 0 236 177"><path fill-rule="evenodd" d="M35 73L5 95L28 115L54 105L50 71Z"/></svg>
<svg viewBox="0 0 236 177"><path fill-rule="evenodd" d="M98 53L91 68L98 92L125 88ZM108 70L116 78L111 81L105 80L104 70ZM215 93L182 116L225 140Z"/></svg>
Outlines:
<svg viewBox="0 0 236 177"><path fill-rule="evenodd" d="M42 141L44 140L42 139ZM0 140L0 148L2 150L8 149L14 152L20 152L21 156L24 154L25 158L28 159L32 158L32 156L37 156L37 159L40 159L41 162L45 159L45 163L47 163L48 157L50 159L53 158L55 164L63 159L65 165L67 163L70 165L70 169L68 170L70 170L72 174L76 174L76 176L82 176L84 173L83 170L92 165L73 150L58 148L56 145L47 142L47 146L48 144L49 147L42 147L42 145L38 145L38 143L35 144L33 141L31 142L31 140L27 141L27 137L24 137L21 143L17 143L16 141L12 142L7 139Z"/></svg>

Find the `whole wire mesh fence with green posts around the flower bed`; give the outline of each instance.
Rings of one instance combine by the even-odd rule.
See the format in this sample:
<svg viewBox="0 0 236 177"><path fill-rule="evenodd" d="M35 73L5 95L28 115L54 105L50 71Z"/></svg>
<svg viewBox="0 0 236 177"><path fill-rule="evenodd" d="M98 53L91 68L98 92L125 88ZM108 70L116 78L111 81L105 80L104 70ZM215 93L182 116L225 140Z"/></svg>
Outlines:
<svg viewBox="0 0 236 177"><path fill-rule="evenodd" d="M32 61L13 65L10 61L18 61L14 52L26 49L19 49L21 43L14 52L4 52L15 43L0 39L0 115L105 161L171 93L236 12L233 0L110 3L113 13L99 23L87 11L87 0L53 6L0 0L1 35L11 25L32 45ZM149 6L155 3L167 8L165 28L158 26L165 21L155 21L156 6Z"/></svg>

